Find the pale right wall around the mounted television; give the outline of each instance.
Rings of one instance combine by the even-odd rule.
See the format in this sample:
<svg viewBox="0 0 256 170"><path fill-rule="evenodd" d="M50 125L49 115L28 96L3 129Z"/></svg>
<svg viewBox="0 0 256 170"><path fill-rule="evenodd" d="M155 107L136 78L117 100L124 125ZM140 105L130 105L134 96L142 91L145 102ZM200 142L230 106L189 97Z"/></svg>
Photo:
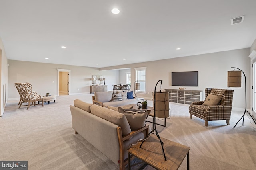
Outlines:
<svg viewBox="0 0 256 170"><path fill-rule="evenodd" d="M122 66L114 66L101 68L101 70L131 68L132 82L134 79L134 68L147 67L147 92L149 94L137 94L144 98L152 98L152 92L158 80L162 81L162 90L166 88L178 89L178 86L171 86L170 73L179 71L198 71L199 86L186 87L187 90L202 90L203 95L205 88L227 88L227 71L232 70L231 67L240 68L246 74L247 80L247 108L250 107L250 48L237 49L231 51L223 51L217 53L209 53L202 55L194 55L187 57L178 57L172 59L150 61L144 63L126 64ZM243 80L244 81L244 80ZM159 84L158 84L159 85ZM243 84L244 86L244 84ZM134 84L131 84L134 89ZM234 90L233 107L245 107L245 89L232 88ZM158 86L157 90L160 90Z"/></svg>

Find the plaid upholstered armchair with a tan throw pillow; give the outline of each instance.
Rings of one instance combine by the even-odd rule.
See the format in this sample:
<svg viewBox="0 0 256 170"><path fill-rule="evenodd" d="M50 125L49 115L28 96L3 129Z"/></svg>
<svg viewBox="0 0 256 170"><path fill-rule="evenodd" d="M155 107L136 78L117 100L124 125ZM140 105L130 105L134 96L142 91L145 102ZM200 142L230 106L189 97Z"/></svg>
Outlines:
<svg viewBox="0 0 256 170"><path fill-rule="evenodd" d="M233 92L234 90L206 88L205 100L193 102L189 106L190 119L192 119L192 115L195 115L196 117L204 119L205 126L208 126L208 121L211 120L226 120L227 125L229 125ZM218 99L216 99L216 97ZM214 101L217 104L211 105L209 103L210 101Z"/></svg>

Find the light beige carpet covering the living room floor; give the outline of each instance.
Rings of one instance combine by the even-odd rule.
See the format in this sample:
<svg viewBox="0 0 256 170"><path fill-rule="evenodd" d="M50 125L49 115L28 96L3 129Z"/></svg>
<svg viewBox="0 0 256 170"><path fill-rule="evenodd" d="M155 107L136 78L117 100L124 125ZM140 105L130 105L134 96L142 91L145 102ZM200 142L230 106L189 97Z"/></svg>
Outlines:
<svg viewBox="0 0 256 170"><path fill-rule="evenodd" d="M18 100L8 101L0 119L0 160L28 160L29 170L117 170L116 164L74 134L69 105L76 98L92 103L92 94L57 96L56 103L31 106L29 110L26 106L18 109ZM148 100L148 106L152 106L152 101ZM230 125L224 120L209 121L205 127L202 119L189 118L188 105L171 104L171 118L166 120L166 127L156 127L160 137L191 148L191 170L253 170L254 122L246 115L244 126L240 121L233 128L242 114L232 111ZM139 161L134 161L133 169L137 164ZM186 168L185 158L179 169Z"/></svg>

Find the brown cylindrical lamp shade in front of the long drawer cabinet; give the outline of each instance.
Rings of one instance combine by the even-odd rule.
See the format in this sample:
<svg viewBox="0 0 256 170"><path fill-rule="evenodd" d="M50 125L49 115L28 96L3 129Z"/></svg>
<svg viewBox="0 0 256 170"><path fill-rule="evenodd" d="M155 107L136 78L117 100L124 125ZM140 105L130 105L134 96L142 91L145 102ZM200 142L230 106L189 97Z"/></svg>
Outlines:
<svg viewBox="0 0 256 170"><path fill-rule="evenodd" d="M156 109L156 117L169 117L169 92L156 92L156 104L153 102L153 107Z"/></svg>

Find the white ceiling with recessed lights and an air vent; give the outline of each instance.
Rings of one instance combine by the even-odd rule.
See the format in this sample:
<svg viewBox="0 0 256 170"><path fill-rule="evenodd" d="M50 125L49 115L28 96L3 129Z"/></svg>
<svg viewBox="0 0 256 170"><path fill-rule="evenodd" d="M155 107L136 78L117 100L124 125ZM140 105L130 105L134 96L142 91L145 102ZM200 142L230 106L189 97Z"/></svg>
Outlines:
<svg viewBox="0 0 256 170"><path fill-rule="evenodd" d="M98 68L241 49L256 0L0 0L0 37L8 59Z"/></svg>

